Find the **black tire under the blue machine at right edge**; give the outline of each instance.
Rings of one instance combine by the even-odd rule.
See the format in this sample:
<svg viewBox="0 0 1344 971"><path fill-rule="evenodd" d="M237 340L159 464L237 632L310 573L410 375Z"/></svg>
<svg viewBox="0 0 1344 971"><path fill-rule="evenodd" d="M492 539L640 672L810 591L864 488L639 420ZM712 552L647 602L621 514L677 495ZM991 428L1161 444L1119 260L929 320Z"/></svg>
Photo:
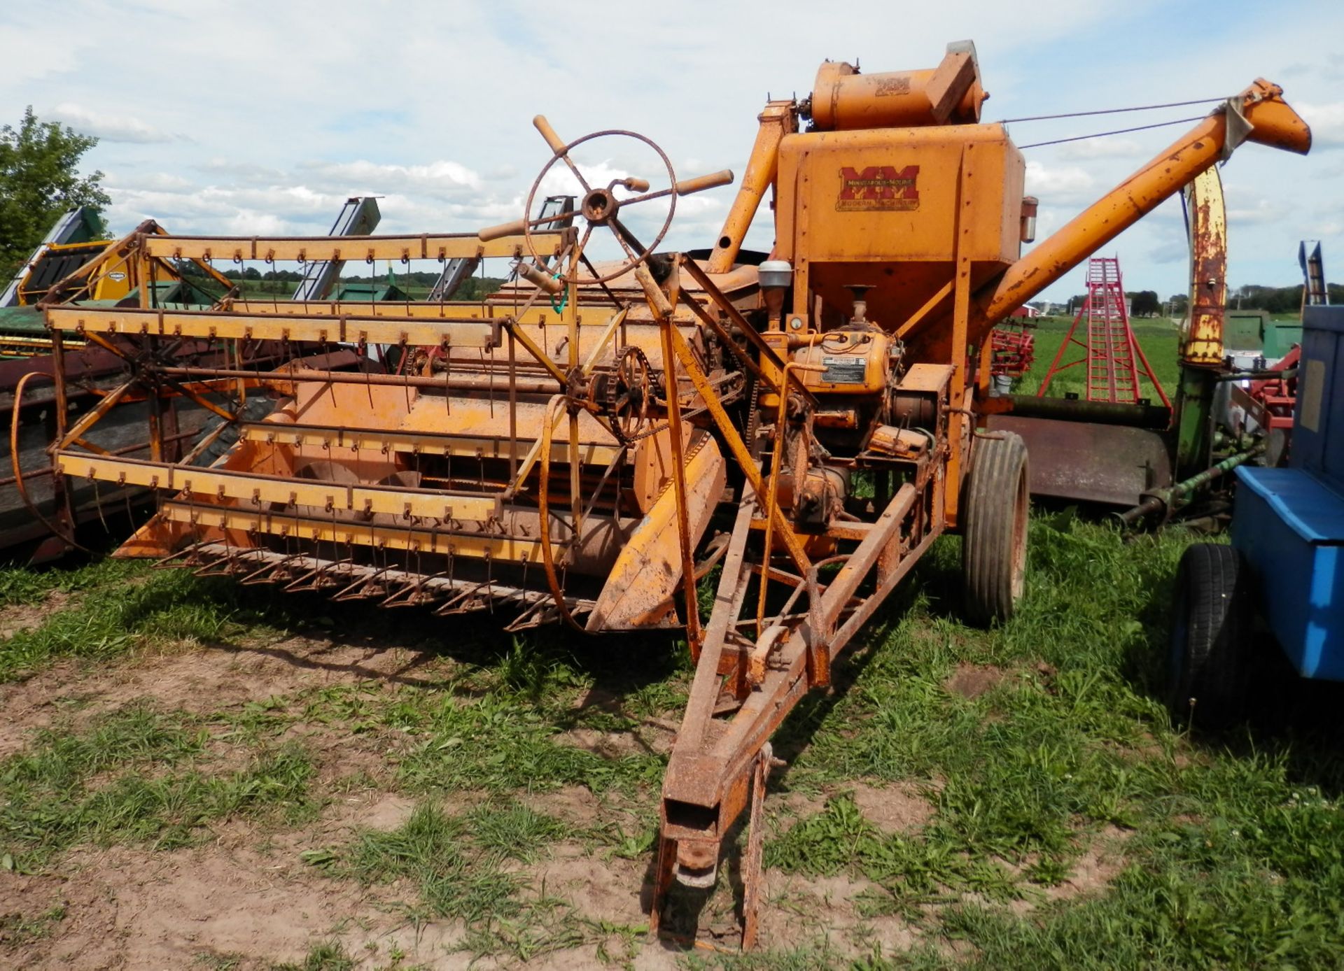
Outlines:
<svg viewBox="0 0 1344 971"><path fill-rule="evenodd" d="M1176 572L1167 672L1167 710L1173 721L1226 728L1245 716L1254 623L1242 555L1216 543L1187 548Z"/></svg>

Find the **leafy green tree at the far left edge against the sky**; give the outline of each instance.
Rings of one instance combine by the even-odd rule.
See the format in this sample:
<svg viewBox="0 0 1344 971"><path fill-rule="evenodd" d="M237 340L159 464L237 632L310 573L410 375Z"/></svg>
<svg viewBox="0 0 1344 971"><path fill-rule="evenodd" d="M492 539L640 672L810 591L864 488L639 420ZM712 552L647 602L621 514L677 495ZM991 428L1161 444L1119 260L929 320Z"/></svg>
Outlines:
<svg viewBox="0 0 1344 971"><path fill-rule="evenodd" d="M0 129L0 278L11 277L56 218L77 205L99 211L112 200L102 172L81 176L79 160L98 140L38 121L30 105L19 128Z"/></svg>

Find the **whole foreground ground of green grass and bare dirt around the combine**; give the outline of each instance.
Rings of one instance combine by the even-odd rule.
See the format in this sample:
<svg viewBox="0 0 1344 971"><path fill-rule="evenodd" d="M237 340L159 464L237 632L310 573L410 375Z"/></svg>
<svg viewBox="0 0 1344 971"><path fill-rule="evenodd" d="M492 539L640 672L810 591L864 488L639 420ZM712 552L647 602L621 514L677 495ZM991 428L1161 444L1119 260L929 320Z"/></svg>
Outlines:
<svg viewBox="0 0 1344 971"><path fill-rule="evenodd" d="M734 861L646 933L673 638L0 569L0 967L1339 966L1340 693L1266 653L1249 727L1172 728L1195 539L1039 513L991 630L941 539L775 739L749 955Z"/></svg>

